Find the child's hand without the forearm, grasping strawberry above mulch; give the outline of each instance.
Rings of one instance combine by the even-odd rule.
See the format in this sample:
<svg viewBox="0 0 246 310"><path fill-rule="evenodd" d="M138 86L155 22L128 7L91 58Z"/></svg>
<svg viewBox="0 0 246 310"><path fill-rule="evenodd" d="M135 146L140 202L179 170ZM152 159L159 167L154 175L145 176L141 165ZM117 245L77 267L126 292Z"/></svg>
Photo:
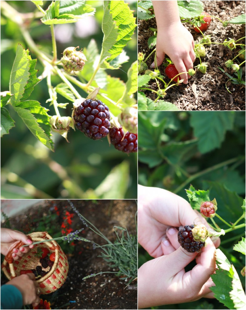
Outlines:
<svg viewBox="0 0 246 310"><path fill-rule="evenodd" d="M180 21L158 28L156 43L157 66L163 62L167 54L175 65L179 73L193 69L195 61L194 40L192 34L181 24ZM154 68L154 63L151 64ZM188 83L190 75L183 73L180 75L184 79L184 84Z"/></svg>

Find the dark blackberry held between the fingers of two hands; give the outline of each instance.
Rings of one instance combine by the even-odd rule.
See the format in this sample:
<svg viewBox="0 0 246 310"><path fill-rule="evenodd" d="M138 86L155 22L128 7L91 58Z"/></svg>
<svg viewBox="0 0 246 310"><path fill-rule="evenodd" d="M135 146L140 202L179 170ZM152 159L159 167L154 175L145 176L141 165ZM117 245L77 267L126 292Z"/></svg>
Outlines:
<svg viewBox="0 0 246 310"><path fill-rule="evenodd" d="M205 245L205 242L194 240L191 231L194 227L195 225L186 225L178 231L178 242L182 248L190 253L199 252Z"/></svg>

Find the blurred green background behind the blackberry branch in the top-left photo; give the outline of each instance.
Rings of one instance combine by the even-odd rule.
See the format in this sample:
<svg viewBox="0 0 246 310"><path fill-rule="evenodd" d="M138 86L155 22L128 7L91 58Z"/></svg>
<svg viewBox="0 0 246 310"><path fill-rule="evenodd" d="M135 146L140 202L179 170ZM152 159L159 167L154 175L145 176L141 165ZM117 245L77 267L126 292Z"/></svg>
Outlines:
<svg viewBox="0 0 246 310"><path fill-rule="evenodd" d="M44 1L43 8L47 9L50 3L51 1ZM58 58L66 47L87 47L92 38L99 51L101 50L103 1L87 3L96 8L94 16L87 16L77 23L55 25ZM127 3L136 17L136 1ZM31 1L8 1L8 4L23 14L38 12ZM52 55L50 27L38 18L30 21L28 29L42 51ZM127 81L127 70L137 59L136 40L135 31L124 49L130 57L129 61L122 65L122 70L108 70L108 74ZM9 90L10 73L18 43L25 49L28 48L19 27L1 15L1 91ZM32 59L36 57L31 50L30 55ZM39 60L36 69L39 70L39 77L43 72ZM52 76L51 82L56 86L61 80ZM82 97L87 96L81 89L77 90ZM46 103L48 98L47 82L43 79L35 86L29 99L38 100L42 106L49 108L49 103ZM57 101L67 102L60 95ZM9 135L1 138L2 198L136 198L136 153L127 155L116 150L113 145L109 147L106 138L94 141L72 129L68 133L69 143L60 135L53 134L53 153L35 139L10 105L6 108L15 121L15 127L10 130ZM60 111L61 116L71 116L72 108L70 102L66 109ZM48 114L56 114L53 106ZM101 187L98 188L100 184Z"/></svg>

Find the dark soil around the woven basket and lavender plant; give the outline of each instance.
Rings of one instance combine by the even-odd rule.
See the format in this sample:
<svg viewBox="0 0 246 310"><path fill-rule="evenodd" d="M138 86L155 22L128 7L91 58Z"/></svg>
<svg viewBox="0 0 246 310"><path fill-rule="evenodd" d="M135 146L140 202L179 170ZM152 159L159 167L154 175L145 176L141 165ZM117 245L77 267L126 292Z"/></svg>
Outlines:
<svg viewBox="0 0 246 310"><path fill-rule="evenodd" d="M129 234L136 234L134 216L137 206L134 200L72 201L79 212L110 241L113 242L116 240L114 226L126 227ZM25 232L25 230L30 230L31 227L31 231L39 231L39 219L43 216L49 216L50 212L54 215L55 203L60 211L60 216L58 217L60 222L51 223L53 227L50 230L55 229L60 232L60 225L63 222L65 211L69 210L69 212L73 212L68 201L64 200L56 200L55 202L46 201L44 206L39 206L39 208L32 207L25 214L11 218L11 228ZM76 214L72 219L73 230L85 227ZM4 223L2 227L4 227ZM85 228L82 237L93 240L100 245L106 244L104 239L92 232L89 228ZM128 280L122 280L114 273L103 273L102 275L82 280L83 277L92 273L118 270L117 268L110 268L104 259L98 257L101 255L99 248L93 250L91 243L83 241L75 241L74 251L72 253L69 253L71 251L67 250L67 247L64 248L62 245L61 247L66 253L69 262L69 272L65 284L54 293L40 296L51 302L51 309L137 308L136 281L133 281L127 286ZM1 284L5 282L6 277L2 275Z"/></svg>

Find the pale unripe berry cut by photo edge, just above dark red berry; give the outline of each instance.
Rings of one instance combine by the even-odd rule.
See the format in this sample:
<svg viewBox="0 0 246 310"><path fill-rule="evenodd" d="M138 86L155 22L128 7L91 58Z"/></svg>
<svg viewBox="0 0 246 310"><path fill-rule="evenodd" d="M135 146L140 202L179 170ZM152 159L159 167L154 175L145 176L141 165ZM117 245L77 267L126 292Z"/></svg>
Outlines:
<svg viewBox="0 0 246 310"><path fill-rule="evenodd" d="M127 107L120 114L119 123L124 126L127 131L137 133L137 108Z"/></svg>

